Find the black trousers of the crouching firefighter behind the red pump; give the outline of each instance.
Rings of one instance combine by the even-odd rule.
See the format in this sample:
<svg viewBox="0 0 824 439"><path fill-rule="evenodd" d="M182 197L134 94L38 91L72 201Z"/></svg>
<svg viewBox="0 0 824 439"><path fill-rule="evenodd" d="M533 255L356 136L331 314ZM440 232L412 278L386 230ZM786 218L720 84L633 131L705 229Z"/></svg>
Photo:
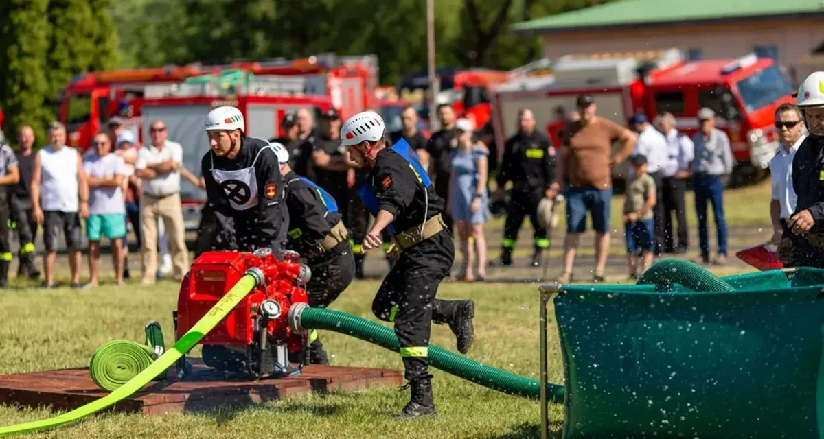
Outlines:
<svg viewBox="0 0 824 439"><path fill-rule="evenodd" d="M355 277L355 259L348 242L341 242L315 258L307 259L309 306L325 308L349 287Z"/></svg>

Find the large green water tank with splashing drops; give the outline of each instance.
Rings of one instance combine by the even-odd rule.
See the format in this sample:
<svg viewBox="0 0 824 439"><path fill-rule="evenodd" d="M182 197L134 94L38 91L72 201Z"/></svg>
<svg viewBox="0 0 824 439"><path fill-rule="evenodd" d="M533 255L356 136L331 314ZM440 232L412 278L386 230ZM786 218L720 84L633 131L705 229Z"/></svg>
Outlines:
<svg viewBox="0 0 824 439"><path fill-rule="evenodd" d="M824 437L824 271L723 281L734 291L564 286L564 439Z"/></svg>

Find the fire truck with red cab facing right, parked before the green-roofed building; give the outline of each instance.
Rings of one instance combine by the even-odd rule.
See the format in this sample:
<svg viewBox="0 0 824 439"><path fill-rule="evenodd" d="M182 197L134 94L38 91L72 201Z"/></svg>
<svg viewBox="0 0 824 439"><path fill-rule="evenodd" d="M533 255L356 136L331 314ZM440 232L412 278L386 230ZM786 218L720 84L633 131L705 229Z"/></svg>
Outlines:
<svg viewBox="0 0 824 439"><path fill-rule="evenodd" d="M547 61L541 65L546 68ZM529 69L526 69L529 70ZM747 54L737 59L685 61L677 49L630 54L568 55L551 63L550 74L519 72L494 91L493 122L496 140L517 131L517 110L528 107L538 127L555 144L564 122L559 110L575 110L581 94L595 97L598 114L626 126L633 114L672 113L677 128L693 135L696 114L709 107L719 115L737 159L736 178L762 174L778 147L773 113L793 102L793 86L770 58ZM616 148L618 145L616 145ZM614 170L621 180L625 167Z"/></svg>

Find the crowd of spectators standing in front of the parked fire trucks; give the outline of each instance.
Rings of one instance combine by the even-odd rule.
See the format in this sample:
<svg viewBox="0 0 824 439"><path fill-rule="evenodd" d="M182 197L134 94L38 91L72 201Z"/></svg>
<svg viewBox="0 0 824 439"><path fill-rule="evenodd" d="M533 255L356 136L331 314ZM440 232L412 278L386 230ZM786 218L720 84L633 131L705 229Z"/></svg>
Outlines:
<svg viewBox="0 0 824 439"><path fill-rule="evenodd" d="M545 216L554 215L562 201L566 203L566 235L557 280L574 280L576 254L588 218L595 231L595 269L590 280L604 281L611 231L616 230L624 233L630 277L637 278L656 255L682 255L689 249L688 186L695 192L698 218L699 255L695 262L726 262L723 193L734 158L727 134L715 126L713 110L698 112L700 128L691 137L678 129L677 119L669 113L652 121L638 114L626 126L616 124L598 114L595 99L588 95L578 96L574 112L559 114L559 144L553 144L536 128L532 111L522 109L518 131L500 146L501 154L490 127L478 128L469 119L456 118L451 105L438 107L442 128L431 136L419 126L412 106L402 111L402 128L387 133L390 142L409 143L428 169L437 194L447 200L444 220L454 231L463 257L455 278L483 280L489 265L512 265L526 217L533 229L531 264L544 264L543 254L550 247L550 222ZM363 278L366 255L360 245L369 216L356 194L360 181L341 147L338 112L326 111L320 122L316 125L307 109L286 114L280 121L281 136L271 141L287 148L289 165L298 175L306 175L335 198L349 229L356 275ZM781 147L770 163L770 218L775 230L772 241L777 244L794 212L790 170L794 152L803 141L798 108L782 105L775 112L775 127ZM18 277L40 278L34 255L38 229L42 228L44 287L54 287L55 258L61 242L68 251L71 285L96 287L101 282L104 240L110 245L115 283L122 285L130 277L130 224L140 249L140 283L150 285L164 273L180 280L190 264L181 176L201 189L204 183L183 166L183 148L168 138L165 122L152 121L145 145L137 141L133 131L124 129L124 120L118 117L94 136L85 153L68 147L66 137L66 128L55 122L49 125L47 144L35 149L34 132L23 127L16 150L12 152L8 146L0 150L0 185L8 188L2 191L0 202L8 206L4 209L8 221L0 219L11 226L20 243ZM619 147L614 152L616 143ZM617 227L611 223L612 180L614 170L625 161L631 164L630 175L621 216L623 227ZM497 190L490 194L492 176ZM490 202L507 206L500 257L492 261L487 259L485 234ZM714 252L709 243L708 204L718 240ZM203 217L204 224L208 223L208 212ZM7 241L0 242L5 245L0 248L0 264L5 264L6 271L12 259ZM88 256L87 283L80 282L84 250ZM204 250L208 249L195 249L195 256ZM388 254L386 259L393 264ZM6 283L7 277L0 282Z"/></svg>

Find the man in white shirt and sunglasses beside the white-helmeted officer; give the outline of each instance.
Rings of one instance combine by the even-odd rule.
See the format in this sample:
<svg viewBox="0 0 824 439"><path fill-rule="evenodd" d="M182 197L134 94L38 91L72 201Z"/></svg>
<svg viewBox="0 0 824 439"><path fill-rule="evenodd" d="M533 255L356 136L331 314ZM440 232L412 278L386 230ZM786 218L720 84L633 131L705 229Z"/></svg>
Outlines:
<svg viewBox="0 0 824 439"><path fill-rule="evenodd" d="M770 242L778 245L784 234L784 225L795 212L796 195L793 189L793 159L804 138L801 111L793 104L782 104L775 109L775 128L778 129L781 146L770 161L772 199L770 220L773 236Z"/></svg>

